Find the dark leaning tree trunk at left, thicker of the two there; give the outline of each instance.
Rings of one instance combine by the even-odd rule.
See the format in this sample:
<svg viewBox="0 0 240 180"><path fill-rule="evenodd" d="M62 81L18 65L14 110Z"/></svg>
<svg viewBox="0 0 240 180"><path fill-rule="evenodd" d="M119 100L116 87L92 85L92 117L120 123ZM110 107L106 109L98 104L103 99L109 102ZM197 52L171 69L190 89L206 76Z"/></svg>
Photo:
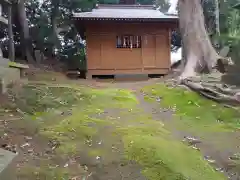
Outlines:
<svg viewBox="0 0 240 180"><path fill-rule="evenodd" d="M25 0L18 1L19 21L20 21L22 33L23 33L23 48L25 48L27 61L29 63L34 63L34 59L32 56L32 43L29 35L29 26L27 22L27 15L25 11L24 2Z"/></svg>

